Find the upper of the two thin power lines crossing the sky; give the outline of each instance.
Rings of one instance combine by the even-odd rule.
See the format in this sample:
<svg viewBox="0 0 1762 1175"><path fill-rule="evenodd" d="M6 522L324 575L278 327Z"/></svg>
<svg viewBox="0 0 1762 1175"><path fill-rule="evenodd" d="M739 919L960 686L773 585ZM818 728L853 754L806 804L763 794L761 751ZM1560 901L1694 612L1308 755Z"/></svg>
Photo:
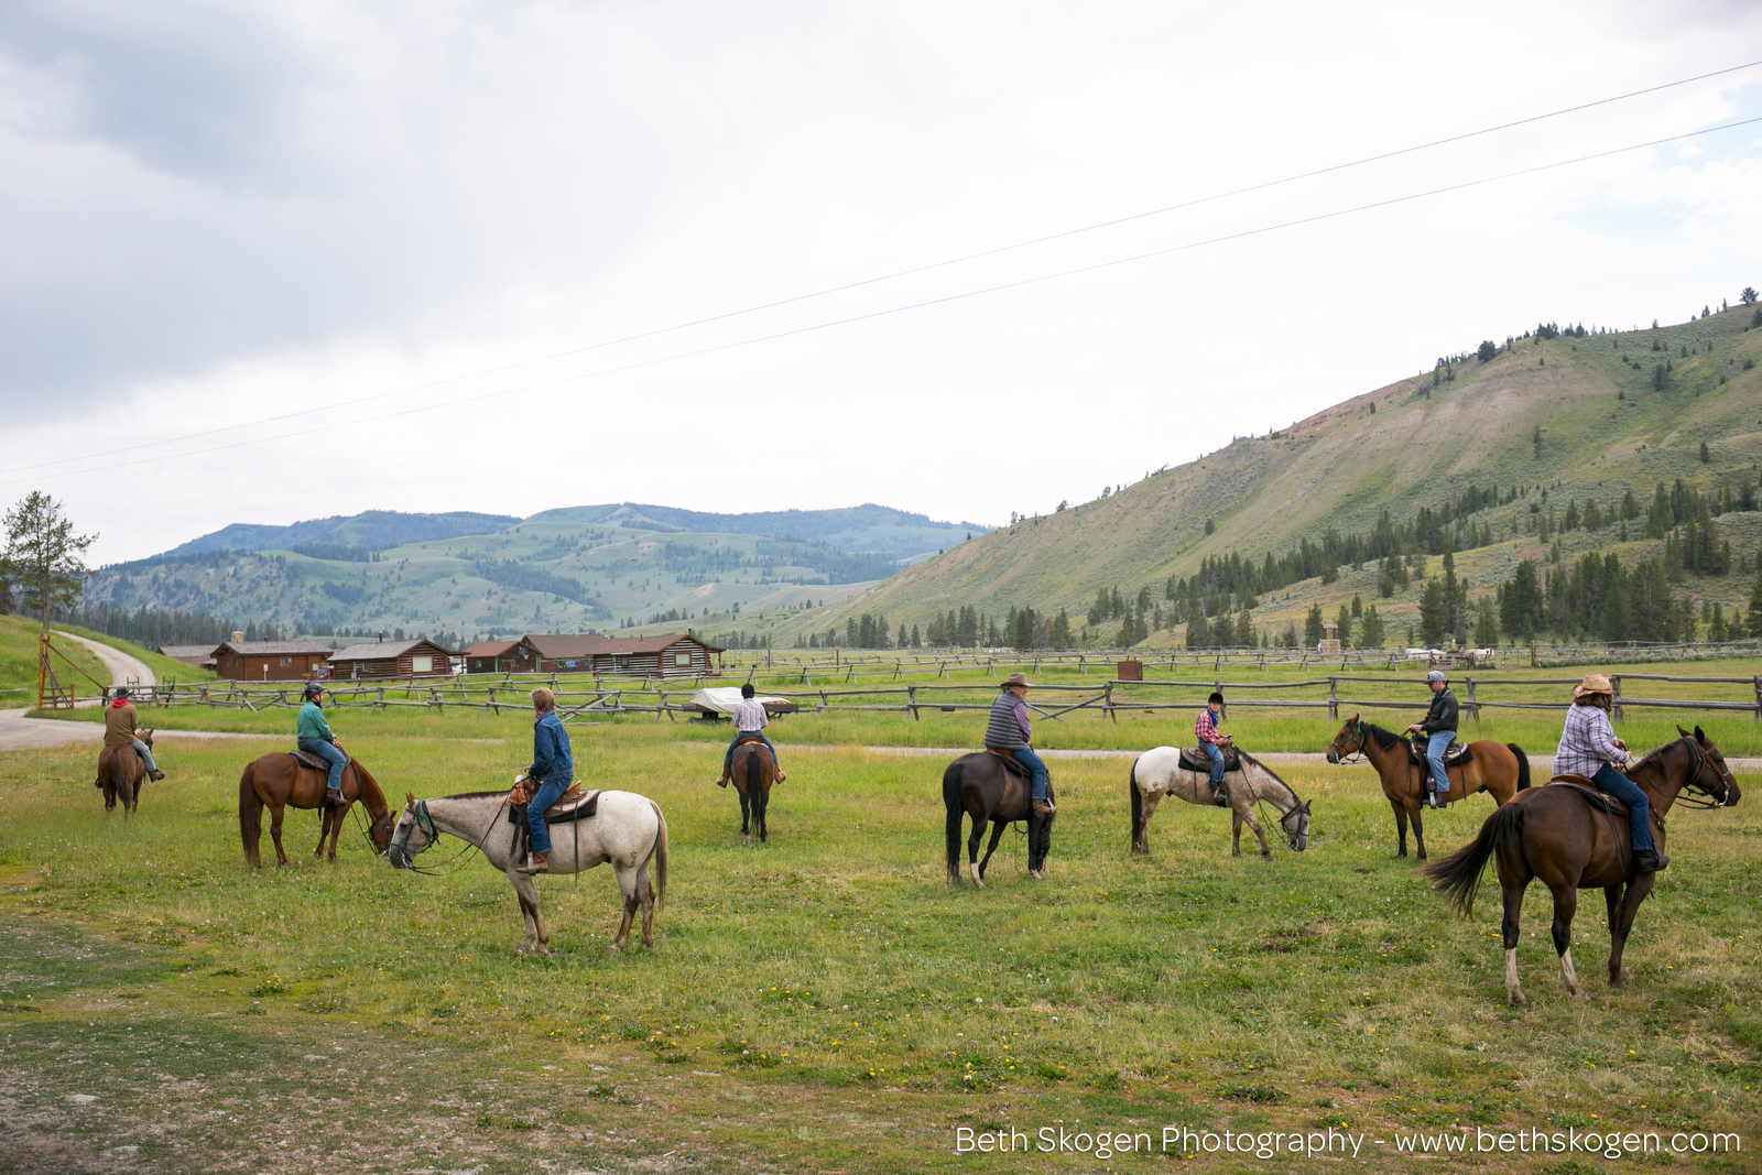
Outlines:
<svg viewBox="0 0 1762 1175"><path fill-rule="evenodd" d="M877 277L867 277L867 278L860 278L860 280L855 280L855 282L846 282L842 285L828 285L825 289L811 291L811 292L805 292L805 294L793 294L789 298L779 298L775 301L758 303L758 305L752 305L752 307L744 307L740 310L726 310L726 312L714 314L714 315L708 315L708 317L691 319L687 322L675 322L673 326L661 326L661 328L654 328L654 329L648 329L648 331L638 331L634 335L624 335L620 338L608 338L608 340L603 340L603 342L597 342L597 344L587 344L583 347L573 347L569 351L557 351L557 352L544 354L544 356L536 356L536 358L530 358L530 359L518 359L515 363L504 363L504 365L499 365L499 366L479 368L476 372L465 372L462 375L449 375L446 379L437 379L437 381L430 381L430 382L425 382L425 384L409 384L409 386L403 386L403 388L393 388L389 391L379 391L379 393L372 393L372 395L366 395L366 396L354 396L354 398L349 398L349 400L337 400L337 402L331 402L331 403L326 403L326 405L310 407L310 409L300 409L300 410L294 410L294 412L282 412L282 414L277 414L277 416L264 416L261 419L243 421L243 423L238 423L238 425L224 425L220 428L206 428L206 430L201 430L201 432L183 433L180 437L167 437L164 440L143 440L139 444L120 446L116 449L102 449L99 453L86 453L83 456L69 456L69 458L55 460L55 462L41 462L41 463L35 463L35 465L19 465L16 469L9 469L9 470L4 470L4 472L5 474L16 474L16 472L21 472L25 469L53 469L56 465L70 465L70 463L76 463L76 462L92 462L92 460L97 460L97 458L102 458L102 456L115 456L118 453L132 453L136 449L153 449L153 447L160 447L160 446L167 446L167 444L180 444L180 442L185 442L185 440L201 440L203 437L215 437L215 435L227 433L227 432L238 432L241 428L261 428L264 425L278 425L282 421L298 419L301 416L312 416L315 412L331 412L335 409L354 407L354 405L361 405L361 403L374 403L375 400L386 400L386 398L391 398L391 396L409 395L409 393L414 393L414 391L430 391L433 388L444 388L448 384L456 384L456 382L465 381L465 379L481 379L485 375L500 375L504 372L520 370L523 366L532 366L536 363L552 363L555 359L567 359L571 356L589 354L589 352L594 352L594 351L604 351L608 347L618 347L618 345L624 345L624 344L641 342L645 338L657 338L657 336L663 336L663 335L673 335L673 333L678 333L678 331L694 329L698 326L710 326L714 322L726 322L729 319L738 319L738 317L744 317L744 315L749 315L749 314L761 314L765 310L777 310L777 308L789 307L789 305L795 305L795 303L811 301L814 298L830 298L832 294L844 294L844 292L849 292L849 291L855 291L855 289L863 289L867 285L877 285L881 282L893 282L893 280L899 280L899 278L904 278L904 277L916 277L916 275L922 275L922 273L930 273L930 271L936 271L936 270L944 270L944 268L950 268L950 266L966 264L969 261L980 261L980 259L985 259L985 257L996 257L996 255L1015 252L1015 250L1020 250L1020 248L1033 248L1034 245L1047 245L1050 241L1068 240L1068 238L1073 238L1073 236L1082 236L1085 233L1098 233L1101 229L1112 229L1112 227L1117 227L1117 225L1122 225L1122 224L1131 224L1135 220L1145 220L1149 217L1161 217L1161 215L1166 215L1166 213L1172 213L1172 211L1184 211L1188 208L1198 208L1202 204L1212 204L1212 203L1225 201L1225 199L1235 199L1239 196L1249 196L1253 192L1265 192L1269 188L1283 187L1283 185L1288 185L1288 183L1299 183L1302 180L1314 180L1318 176L1325 176L1325 174L1332 174L1332 173L1339 173L1339 171L1348 171L1348 169L1353 169L1353 167L1364 167L1364 166L1376 164L1376 162L1385 162L1385 160L1390 160L1390 159L1399 159L1403 155L1413 155L1417 151L1425 151L1425 150L1433 150L1433 148L1438 148L1438 146L1447 146L1450 143L1462 143L1462 141L1468 141L1468 139L1477 139L1477 137L1482 137L1482 136L1498 134L1501 130L1512 130L1515 127L1528 127L1531 123L1545 122L1549 118L1561 118L1565 115L1577 115L1581 111L1595 109L1598 106L1609 106L1612 102L1625 102L1628 99L1644 97L1647 93L1658 93L1658 92L1663 92L1663 90L1674 90L1677 86L1693 85L1697 81L1706 81L1709 78L1720 78L1723 74L1736 74L1736 72L1741 72L1741 70L1746 70L1746 69L1755 69L1757 65L1762 65L1762 60L1746 62L1743 65L1730 65L1730 67L1716 69L1716 70L1711 70L1711 72L1706 72L1706 74L1695 74L1693 78L1681 78L1677 81L1667 81L1667 83L1662 83L1662 85L1656 85L1656 86L1646 86L1646 88L1640 88L1640 90L1628 90L1626 93L1616 93L1616 95L1610 95L1607 99L1596 99L1593 102L1581 102L1577 106L1566 106L1566 107L1561 107L1558 111L1549 111L1545 115L1531 115L1528 118L1519 118L1519 120L1498 123L1498 125L1492 125L1492 127L1482 127L1480 130L1468 130L1468 132L1462 132L1462 134L1445 136L1441 139L1431 139L1429 143L1417 143L1413 146L1403 146L1403 148L1397 148L1397 150L1392 150L1392 151L1381 151L1378 155L1367 155L1364 159L1355 159L1355 160L1350 160L1350 162L1344 162L1344 164L1330 164L1327 167L1316 167L1313 171L1302 171L1302 173L1295 173L1295 174L1290 174L1290 176L1283 176L1279 180L1267 180L1267 181L1262 181L1262 183L1253 183L1253 185L1247 185L1247 187L1232 188L1228 192L1214 192L1212 196L1202 196L1202 197L1196 197L1196 199L1191 199L1191 201L1182 201L1182 203L1177 203L1177 204L1165 204L1163 208L1151 208L1147 211L1136 211L1136 213L1129 213L1126 217L1115 217L1112 220L1099 220L1096 224L1085 224L1085 225L1075 227L1075 229L1062 229L1059 233L1048 233L1045 236L1036 236L1036 238L1029 238L1029 240L1024 240L1024 241L1015 241L1011 245L997 245L994 248L983 248L983 250L978 250L978 252L973 252L973 254L964 254L964 255L959 255L959 257L946 257L943 261L930 261L930 262L925 262L922 266L913 266L913 268L907 268L907 270L895 270L892 273L883 273L883 275L877 275ZM289 435L305 435L305 433L289 433ZM201 449L201 451L208 453L208 451L213 451L213 449ZM0 484L18 484L18 483L0 483Z"/></svg>

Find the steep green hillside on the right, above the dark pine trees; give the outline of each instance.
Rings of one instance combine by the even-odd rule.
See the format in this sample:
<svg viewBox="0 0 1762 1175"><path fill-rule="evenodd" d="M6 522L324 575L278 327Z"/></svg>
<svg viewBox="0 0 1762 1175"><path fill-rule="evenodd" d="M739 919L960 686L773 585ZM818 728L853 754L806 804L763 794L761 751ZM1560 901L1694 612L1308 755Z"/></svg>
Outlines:
<svg viewBox="0 0 1762 1175"><path fill-rule="evenodd" d="M1470 595L1491 592L1519 558L1547 558L1552 543L1538 518L1568 502L1596 502L1600 514L1632 490L1653 500L1658 483L1736 495L1755 484L1762 454L1762 312L1734 307L1690 322L1626 333L1529 331L1507 345L1440 361L1427 375L1404 379L1337 403L1265 437L1242 437L1196 462L1151 476L1117 495L1029 518L916 564L812 617L774 617L772 645L809 632L844 631L860 613L927 627L934 615L974 608L1004 617L1011 608L1068 610L1073 632L1099 588L1126 599L1149 590L1152 606L1170 578L1188 578L1205 558L1263 560L1292 555L1304 541L1373 534L1388 523L1448 518L1468 525L1477 543L1462 551L1459 574ZM1706 460L1702 460L1706 444ZM1517 495L1515 499L1512 495ZM1545 497L1544 497L1545 495ZM1492 504L1482 504L1491 499ZM1425 514L1422 516L1422 511ZM1762 516L1725 513L1718 527L1755 569ZM1491 534L1487 534L1491 532ZM1656 555L1662 543L1630 523L1561 536L1561 558L1584 550L1616 550L1623 562ZM1438 560L1431 560L1436 574ZM1748 597L1743 574L1690 580L1686 590L1732 602ZM1322 602L1332 620L1341 601L1359 594L1383 610L1388 643L1404 643L1422 581L1378 599L1376 564L1339 578L1293 581L1258 601L1260 631L1283 632ZM728 618L733 620L733 618ZM715 627L708 625L714 632ZM1078 639L1110 643L1107 622ZM1182 639L1179 629L1152 632L1145 647Z"/></svg>

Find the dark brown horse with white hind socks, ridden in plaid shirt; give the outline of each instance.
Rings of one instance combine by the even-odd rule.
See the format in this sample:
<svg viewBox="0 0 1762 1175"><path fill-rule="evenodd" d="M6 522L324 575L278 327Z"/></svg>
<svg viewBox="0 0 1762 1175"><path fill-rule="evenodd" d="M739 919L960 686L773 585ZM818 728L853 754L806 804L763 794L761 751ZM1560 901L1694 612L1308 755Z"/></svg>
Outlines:
<svg viewBox="0 0 1762 1175"><path fill-rule="evenodd" d="M1743 793L1725 768L1725 756L1700 728L1690 735L1676 728L1679 740L1658 747L1628 772L1656 817L1653 842L1663 853L1663 817L1683 791L1711 798L1699 807L1732 807ZM1573 777L1565 777L1573 779ZM1579 907L1579 890L1602 886L1609 905L1609 985L1621 987L1633 974L1621 965L1621 950L1633 928L1633 914L1651 893L1658 874L1633 874L1633 846L1628 817L1593 807L1577 786L1556 782L1517 796L1499 807L1480 826L1480 835L1436 865L1425 876L1438 883L1464 914L1475 909L1475 890L1487 858L1496 858L1499 890L1505 893L1505 994L1522 1004L1517 987L1517 916L1524 905L1524 888L1540 877L1554 893L1554 953L1566 994L1588 999L1572 965L1572 914ZM1626 886L1626 891L1623 891Z"/></svg>

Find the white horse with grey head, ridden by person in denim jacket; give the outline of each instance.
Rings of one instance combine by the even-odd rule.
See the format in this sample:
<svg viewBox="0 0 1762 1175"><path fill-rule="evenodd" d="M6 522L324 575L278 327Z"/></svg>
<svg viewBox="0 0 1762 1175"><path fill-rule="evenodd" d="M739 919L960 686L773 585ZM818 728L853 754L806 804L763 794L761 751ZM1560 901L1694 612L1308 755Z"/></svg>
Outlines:
<svg viewBox="0 0 1762 1175"><path fill-rule="evenodd" d="M440 839L440 833L467 840L483 851L490 865L507 874L520 898L520 916L527 923L522 950L550 955L550 930L539 914L539 891L529 874L518 872L525 828L507 821L506 791L478 791L463 796L418 800L407 794L403 814L391 830L386 856L396 868L416 868L416 854ZM666 817L661 805L634 791L601 791L594 816L552 823L550 868L576 874L611 863L624 891L624 923L613 950L627 950L636 907L643 911L643 946L655 944L655 902L666 895ZM648 860L655 863L655 883L648 886Z"/></svg>

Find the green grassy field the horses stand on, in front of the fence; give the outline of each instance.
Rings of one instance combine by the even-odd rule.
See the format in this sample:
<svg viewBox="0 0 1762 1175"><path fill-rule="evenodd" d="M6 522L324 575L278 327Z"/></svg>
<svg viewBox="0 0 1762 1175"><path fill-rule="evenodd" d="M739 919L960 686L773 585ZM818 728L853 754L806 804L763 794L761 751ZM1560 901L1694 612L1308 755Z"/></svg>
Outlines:
<svg viewBox="0 0 1762 1175"><path fill-rule="evenodd" d="M393 728L425 717L374 721L351 747L393 794L500 786L525 759L522 719L435 719L426 736ZM604 870L541 879L550 960L516 953L513 895L479 860L400 874L351 830L340 863L314 863L317 819L298 812L294 867L248 872L236 780L271 742L164 740L171 779L130 821L102 814L90 752L0 757L9 1136L63 1168L134 1147L137 1166L178 1171L1001 1171L1154 1159L957 1154L962 1127L1033 1145L1041 1127L1158 1143L1165 1126L1334 1127L1364 1136L1364 1166L1410 1170L1403 1131L1758 1120L1753 802L1672 816L1676 863L1640 913L1626 990L1561 994L1531 893L1531 1002L1510 1009L1496 909L1455 918L1392 858L1366 768L1286 772L1314 802L1306 854L1276 840L1270 861L1232 860L1223 814L1175 805L1133 860L1122 765L1055 763L1047 883L1008 835L985 891L950 890L943 765L789 749L789 722L791 780L754 849L691 728L574 728L580 777L655 798L671 828L657 950L631 957L606 951ZM478 742L493 731L509 742ZM1433 816L1434 853L1489 810ZM1586 902L1575 953L1593 979L1598 923ZM1755 1170L1758 1140L1744 1145L1706 1170ZM1559 1163L1496 1166L1593 1170Z"/></svg>

